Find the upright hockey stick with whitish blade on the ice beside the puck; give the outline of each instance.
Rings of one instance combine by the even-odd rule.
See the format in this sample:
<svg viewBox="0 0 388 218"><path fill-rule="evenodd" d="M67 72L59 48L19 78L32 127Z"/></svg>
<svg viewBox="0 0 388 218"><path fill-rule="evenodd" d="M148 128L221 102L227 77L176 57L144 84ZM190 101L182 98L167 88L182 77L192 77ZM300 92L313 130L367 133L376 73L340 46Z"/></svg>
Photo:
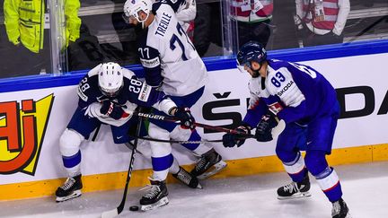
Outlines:
<svg viewBox="0 0 388 218"><path fill-rule="evenodd" d="M142 120L139 119L138 123L137 123L137 135L140 135L141 123L142 123ZM126 185L124 187L124 193L123 193L123 196L122 196L122 199L121 199L121 203L119 204L119 206L117 208L115 208L113 210L110 210L110 211L103 212L101 214L101 218L112 218L112 217L115 217L115 216L121 214L121 212L124 209L124 206L125 206L125 203L126 203L126 200L127 200L128 185L129 185L129 181L131 179L132 169L133 169L133 165L134 165L134 161L135 161L135 155L137 153L137 141L138 141L138 138L135 138L135 142L133 143L132 154L131 154L130 161L129 161Z"/></svg>

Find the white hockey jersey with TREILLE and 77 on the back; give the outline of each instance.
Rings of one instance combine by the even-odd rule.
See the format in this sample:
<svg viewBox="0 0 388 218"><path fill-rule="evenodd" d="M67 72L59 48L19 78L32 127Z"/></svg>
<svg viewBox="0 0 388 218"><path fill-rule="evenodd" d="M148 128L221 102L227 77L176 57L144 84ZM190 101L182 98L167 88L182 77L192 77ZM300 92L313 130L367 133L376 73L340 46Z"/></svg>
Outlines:
<svg viewBox="0 0 388 218"><path fill-rule="evenodd" d="M161 85L172 96L190 94L207 82L207 69L176 18L178 8L166 1L154 4L154 21L139 37L137 50L146 83Z"/></svg>

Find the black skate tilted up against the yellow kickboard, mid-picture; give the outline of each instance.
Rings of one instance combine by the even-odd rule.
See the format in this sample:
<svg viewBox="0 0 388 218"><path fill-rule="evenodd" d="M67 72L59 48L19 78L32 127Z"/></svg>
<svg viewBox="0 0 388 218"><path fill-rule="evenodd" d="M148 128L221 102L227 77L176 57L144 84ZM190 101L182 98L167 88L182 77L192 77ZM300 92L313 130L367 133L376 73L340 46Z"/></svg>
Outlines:
<svg viewBox="0 0 388 218"><path fill-rule="evenodd" d="M218 171L223 170L225 167L226 162L223 161L221 155L216 153L214 148L212 148L207 153L201 155L190 174L198 179L207 179Z"/></svg>

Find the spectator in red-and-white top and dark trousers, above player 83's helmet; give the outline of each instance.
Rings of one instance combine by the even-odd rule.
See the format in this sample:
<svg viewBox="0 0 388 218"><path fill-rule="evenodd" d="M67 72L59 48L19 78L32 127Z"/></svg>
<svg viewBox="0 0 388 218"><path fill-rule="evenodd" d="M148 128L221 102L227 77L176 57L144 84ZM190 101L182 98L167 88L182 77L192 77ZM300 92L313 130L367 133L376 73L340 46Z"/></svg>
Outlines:
<svg viewBox="0 0 388 218"><path fill-rule="evenodd" d="M238 26L239 47L250 40L267 46L272 11L272 0L231 0L232 19Z"/></svg>

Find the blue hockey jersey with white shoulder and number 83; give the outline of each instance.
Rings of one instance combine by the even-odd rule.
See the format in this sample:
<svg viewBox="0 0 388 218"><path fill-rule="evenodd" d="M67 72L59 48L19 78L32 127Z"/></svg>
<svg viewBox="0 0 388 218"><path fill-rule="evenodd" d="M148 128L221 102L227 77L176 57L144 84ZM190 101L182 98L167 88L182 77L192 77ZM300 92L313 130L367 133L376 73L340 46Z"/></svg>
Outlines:
<svg viewBox="0 0 388 218"><path fill-rule="evenodd" d="M329 113L337 97L322 74L307 65L276 59L268 63L265 80L258 77L249 82L251 99L245 123L257 126L267 109L286 123L301 125Z"/></svg>

